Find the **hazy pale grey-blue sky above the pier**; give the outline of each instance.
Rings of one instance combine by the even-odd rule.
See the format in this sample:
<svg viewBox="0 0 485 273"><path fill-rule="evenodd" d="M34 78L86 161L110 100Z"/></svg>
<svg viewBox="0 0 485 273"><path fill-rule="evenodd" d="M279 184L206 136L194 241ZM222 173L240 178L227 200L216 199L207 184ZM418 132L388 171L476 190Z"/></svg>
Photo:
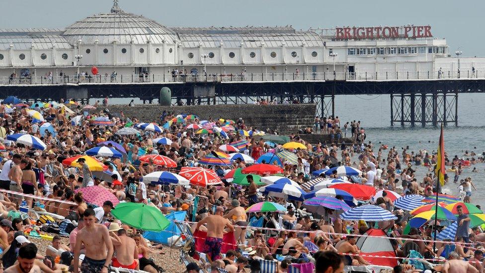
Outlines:
<svg viewBox="0 0 485 273"><path fill-rule="evenodd" d="M1 0L1 28L59 27L100 12L112 0ZM119 0L121 8L166 26L293 25L296 29L333 26L426 25L446 38L450 52L485 56L481 26L485 1L451 0Z"/></svg>

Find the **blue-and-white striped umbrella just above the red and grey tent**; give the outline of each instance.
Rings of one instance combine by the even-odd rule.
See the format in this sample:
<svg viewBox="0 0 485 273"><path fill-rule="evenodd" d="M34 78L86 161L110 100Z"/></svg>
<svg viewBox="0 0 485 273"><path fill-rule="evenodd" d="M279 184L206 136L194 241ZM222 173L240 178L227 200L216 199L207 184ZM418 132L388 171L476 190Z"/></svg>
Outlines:
<svg viewBox="0 0 485 273"><path fill-rule="evenodd" d="M366 222L382 222L398 219L389 210L376 205L363 205L351 208L340 214L340 218L346 221L364 220Z"/></svg>

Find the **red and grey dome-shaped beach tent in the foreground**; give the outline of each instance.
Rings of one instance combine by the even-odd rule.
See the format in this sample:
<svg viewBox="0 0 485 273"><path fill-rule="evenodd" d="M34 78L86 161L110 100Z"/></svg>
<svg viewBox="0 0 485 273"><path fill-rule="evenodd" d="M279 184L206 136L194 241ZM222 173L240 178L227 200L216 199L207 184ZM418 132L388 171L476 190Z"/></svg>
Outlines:
<svg viewBox="0 0 485 273"><path fill-rule="evenodd" d="M368 229L363 235L381 237L359 237L356 245L359 247L362 254L371 256L397 257L393 245L391 244L391 238L389 238L386 232L384 232L382 229L371 228ZM365 256L363 258L370 264L376 266L395 267L398 265L397 259L373 258Z"/></svg>

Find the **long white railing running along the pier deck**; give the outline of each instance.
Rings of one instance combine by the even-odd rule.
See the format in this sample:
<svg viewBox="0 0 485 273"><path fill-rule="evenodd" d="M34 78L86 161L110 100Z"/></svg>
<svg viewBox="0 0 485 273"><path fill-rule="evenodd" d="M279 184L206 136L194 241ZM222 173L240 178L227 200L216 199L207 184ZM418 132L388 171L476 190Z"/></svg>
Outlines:
<svg viewBox="0 0 485 273"><path fill-rule="evenodd" d="M17 76L0 77L0 85L67 85L67 84L151 84L195 82L294 82L294 81L389 81L485 79L485 70L418 71L418 72L301 72L301 73L208 73L208 74L145 74L85 76Z"/></svg>

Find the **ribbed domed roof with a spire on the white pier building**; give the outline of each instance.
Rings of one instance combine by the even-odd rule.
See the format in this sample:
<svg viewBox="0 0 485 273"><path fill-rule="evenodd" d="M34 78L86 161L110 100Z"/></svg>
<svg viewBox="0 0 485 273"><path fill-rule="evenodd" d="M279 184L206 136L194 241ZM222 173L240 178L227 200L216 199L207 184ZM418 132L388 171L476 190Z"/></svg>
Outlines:
<svg viewBox="0 0 485 273"><path fill-rule="evenodd" d="M100 13L86 17L68 26L64 37L71 43L111 44L114 40L119 44L128 44L133 40L135 44L173 43L177 36L175 32L157 21L141 15L127 13L119 8L117 1L110 13Z"/></svg>

